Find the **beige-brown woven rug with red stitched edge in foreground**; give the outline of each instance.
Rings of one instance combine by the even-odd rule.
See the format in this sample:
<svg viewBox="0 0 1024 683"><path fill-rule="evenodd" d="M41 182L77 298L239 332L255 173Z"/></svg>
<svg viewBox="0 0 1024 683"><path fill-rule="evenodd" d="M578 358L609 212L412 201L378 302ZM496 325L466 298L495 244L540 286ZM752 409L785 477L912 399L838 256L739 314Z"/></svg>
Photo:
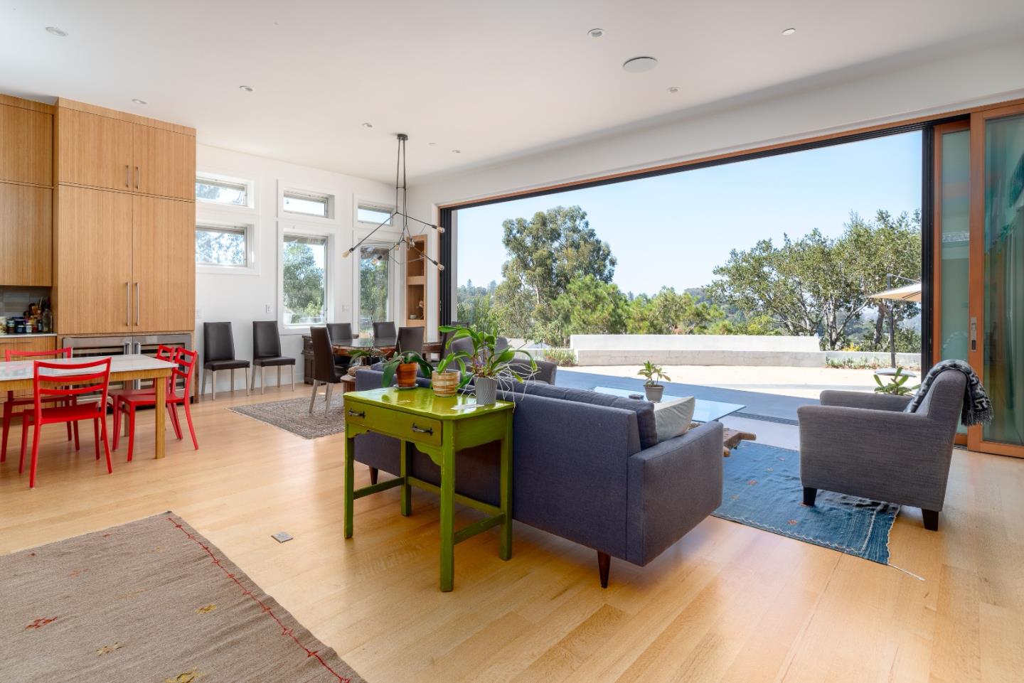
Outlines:
<svg viewBox="0 0 1024 683"><path fill-rule="evenodd" d="M365 683L170 512L0 556L0 577L4 681Z"/></svg>

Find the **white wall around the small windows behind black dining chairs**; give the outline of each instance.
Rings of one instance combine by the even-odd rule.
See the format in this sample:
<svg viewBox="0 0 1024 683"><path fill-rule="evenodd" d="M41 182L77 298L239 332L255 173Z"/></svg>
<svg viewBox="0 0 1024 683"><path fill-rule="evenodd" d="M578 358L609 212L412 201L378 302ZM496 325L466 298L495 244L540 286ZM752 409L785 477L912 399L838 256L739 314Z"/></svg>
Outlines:
<svg viewBox="0 0 1024 683"><path fill-rule="evenodd" d="M255 182L255 207L252 209L221 207L208 202L196 203L198 222L255 224L254 267L247 272L223 269L214 271L209 266L197 268L196 275L196 348L203 348L203 323L230 321L234 333L234 353L240 358L252 358L252 322L281 319L279 253L281 230L296 229L329 236L328 260L328 312L331 322L355 322L355 270L354 256L342 258L356 234L365 233L354 220L355 201L394 204L394 187L375 180L332 173L319 169L296 166L286 162L254 157L218 147L200 144L196 151L197 172L213 173ZM279 187L305 188L335 196L333 220L303 219L293 214L279 212ZM378 232L379 236L384 234ZM388 234L387 237L391 237ZM392 268L395 301L392 312L397 314L404 288L398 286L400 273ZM269 306L269 310L267 307ZM302 377L302 334L308 329L286 329L282 326L282 350L295 356L296 381ZM218 390L228 387L227 373L220 373ZM242 373L238 374L241 383ZM267 384L276 377L267 373ZM283 382L288 382L284 373Z"/></svg>

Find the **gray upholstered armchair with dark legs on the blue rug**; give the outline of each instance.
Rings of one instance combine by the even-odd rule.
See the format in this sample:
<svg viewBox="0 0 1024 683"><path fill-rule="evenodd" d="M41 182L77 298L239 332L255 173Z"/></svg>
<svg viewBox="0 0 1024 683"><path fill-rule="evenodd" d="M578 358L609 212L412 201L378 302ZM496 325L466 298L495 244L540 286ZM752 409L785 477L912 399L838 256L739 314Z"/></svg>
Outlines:
<svg viewBox="0 0 1024 683"><path fill-rule="evenodd" d="M800 478L804 505L818 488L921 508L925 528L939 528L953 437L967 380L935 378L916 413L909 396L822 391L820 405L802 405Z"/></svg>

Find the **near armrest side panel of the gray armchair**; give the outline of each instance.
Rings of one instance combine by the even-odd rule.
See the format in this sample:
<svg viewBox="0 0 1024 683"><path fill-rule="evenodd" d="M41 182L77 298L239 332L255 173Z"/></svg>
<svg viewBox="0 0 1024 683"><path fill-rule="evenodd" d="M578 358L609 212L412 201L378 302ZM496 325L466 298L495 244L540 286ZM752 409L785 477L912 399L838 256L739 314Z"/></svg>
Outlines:
<svg viewBox="0 0 1024 683"><path fill-rule="evenodd" d="M802 405L804 486L941 510L952 440L921 413Z"/></svg>

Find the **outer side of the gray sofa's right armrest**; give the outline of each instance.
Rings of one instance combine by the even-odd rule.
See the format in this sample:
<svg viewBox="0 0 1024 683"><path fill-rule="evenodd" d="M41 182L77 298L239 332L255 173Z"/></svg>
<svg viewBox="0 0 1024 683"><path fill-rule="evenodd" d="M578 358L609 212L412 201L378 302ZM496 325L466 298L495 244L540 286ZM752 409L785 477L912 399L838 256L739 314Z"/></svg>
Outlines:
<svg viewBox="0 0 1024 683"><path fill-rule="evenodd" d="M723 429L708 422L630 458L630 562L650 562L722 504Z"/></svg>

